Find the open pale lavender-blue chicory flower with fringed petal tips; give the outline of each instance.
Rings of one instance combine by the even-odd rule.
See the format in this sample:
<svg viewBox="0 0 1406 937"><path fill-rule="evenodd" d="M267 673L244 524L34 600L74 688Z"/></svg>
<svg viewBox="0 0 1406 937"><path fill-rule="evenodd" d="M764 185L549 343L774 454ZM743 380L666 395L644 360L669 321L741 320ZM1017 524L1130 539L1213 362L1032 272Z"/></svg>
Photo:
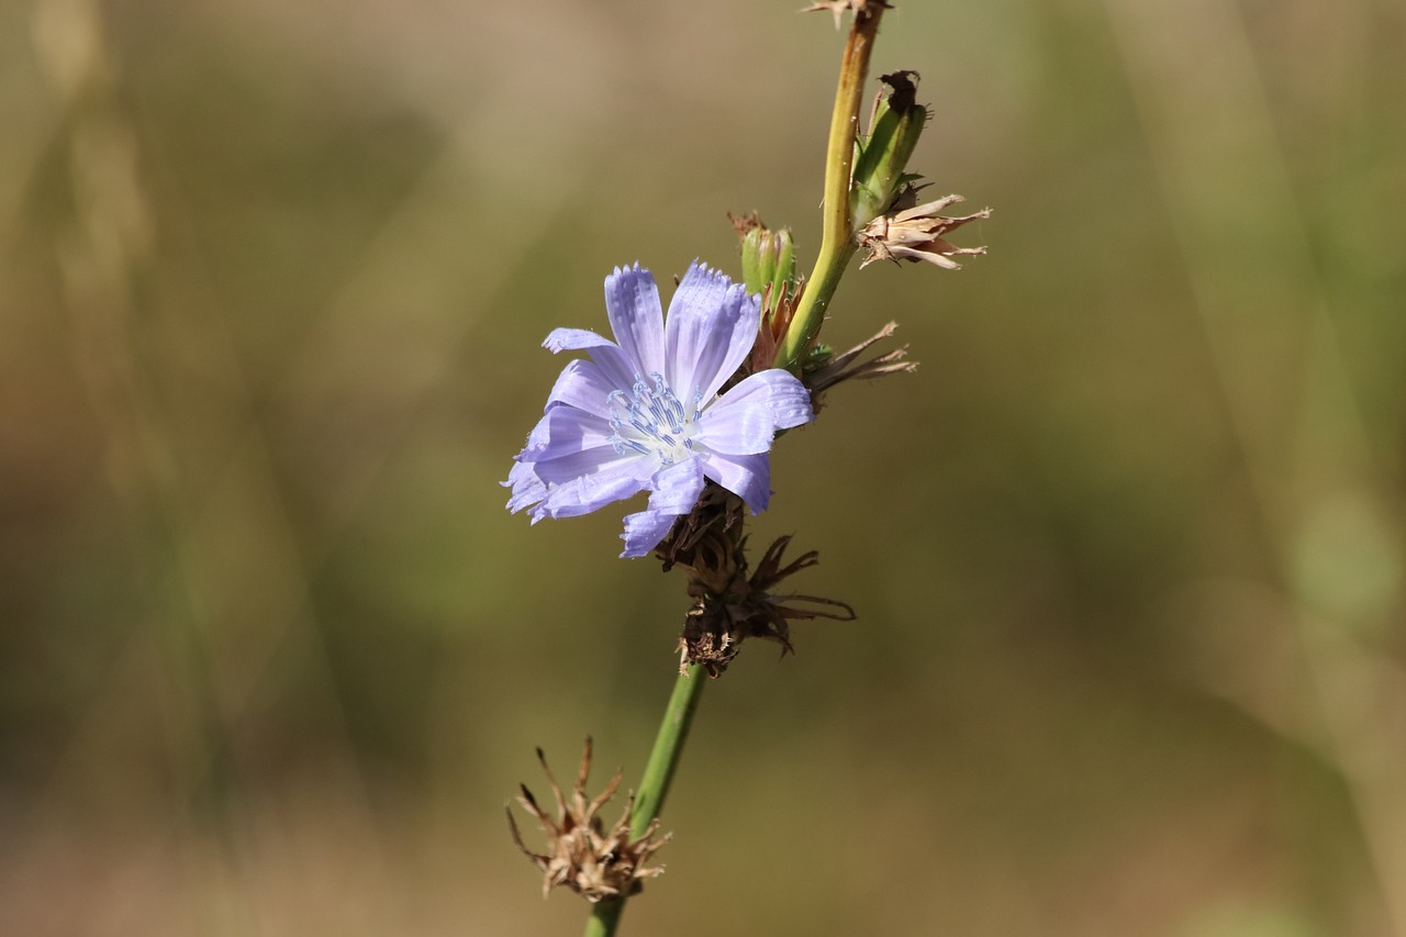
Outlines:
<svg viewBox="0 0 1406 937"><path fill-rule="evenodd" d="M814 419L793 374L723 384L756 339L761 304L740 283L695 262L669 304L638 264L606 277L616 340L555 329L544 348L589 353L567 364L508 481L508 508L543 518L589 514L641 491L648 506L624 519L624 553L645 556L693 509L711 478L752 512L770 499L766 454L780 429Z"/></svg>

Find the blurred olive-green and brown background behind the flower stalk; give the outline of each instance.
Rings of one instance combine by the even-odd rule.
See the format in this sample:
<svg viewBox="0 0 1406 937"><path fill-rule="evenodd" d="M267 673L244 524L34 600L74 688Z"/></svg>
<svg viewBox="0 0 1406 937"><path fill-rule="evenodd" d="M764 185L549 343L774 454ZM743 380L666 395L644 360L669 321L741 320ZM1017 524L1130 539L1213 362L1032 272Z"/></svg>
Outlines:
<svg viewBox="0 0 1406 937"><path fill-rule="evenodd" d="M797 6L0 6L0 933L579 933L503 803L638 777L682 578L498 481L610 267L814 250ZM1406 7L910 0L875 66L991 253L841 287L922 367L754 529L860 620L707 688L621 933L1406 934Z"/></svg>

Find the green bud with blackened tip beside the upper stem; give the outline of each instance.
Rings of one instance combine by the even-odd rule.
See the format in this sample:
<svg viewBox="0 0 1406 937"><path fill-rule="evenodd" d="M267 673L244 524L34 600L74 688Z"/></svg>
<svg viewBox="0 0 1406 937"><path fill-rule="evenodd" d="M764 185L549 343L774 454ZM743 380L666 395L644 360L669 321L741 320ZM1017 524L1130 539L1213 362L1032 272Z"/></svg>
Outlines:
<svg viewBox="0 0 1406 937"><path fill-rule="evenodd" d="M917 179L905 172L928 122L928 108L917 103L917 72L893 72L880 79L889 94L875 104L869 135L855 141L849 211L856 231L889 211L904 183Z"/></svg>

